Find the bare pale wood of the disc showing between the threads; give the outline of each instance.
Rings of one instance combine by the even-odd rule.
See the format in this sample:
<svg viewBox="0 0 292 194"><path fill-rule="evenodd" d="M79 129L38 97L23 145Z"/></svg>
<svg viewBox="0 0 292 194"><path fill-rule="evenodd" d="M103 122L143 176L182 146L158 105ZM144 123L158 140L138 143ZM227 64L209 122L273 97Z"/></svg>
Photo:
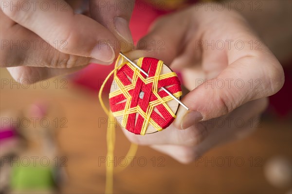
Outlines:
<svg viewBox="0 0 292 194"><path fill-rule="evenodd" d="M120 59L120 60L121 60L121 59ZM133 61L134 61L134 63L137 64L138 59L133 60ZM120 63L121 63L121 62L119 61L119 64L120 64ZM163 64L162 71L161 71L160 74L166 74L166 73L170 73L170 72L173 72L173 71L172 71L169 67L167 67L165 64ZM130 78L128 78L128 79L129 79L129 81L132 81ZM110 93L111 93L111 92L114 92L114 91L116 91L116 90L118 90L118 89L120 89L120 88L118 87L118 84L116 83L115 80L113 80L113 82L112 82L112 84L111 84L111 87L110 87ZM158 91L161 91L161 90L162 90L162 89L159 88ZM143 93L140 92L139 98L140 98L140 99L143 99ZM177 113L177 110L178 110L178 107L179 107L179 103L178 103L177 101L175 101L174 99L172 99L172 100L166 102L166 105L172 110L172 112L173 112L174 114ZM155 112L158 113L160 116L162 116L161 113L157 110L156 107L153 109L153 111L155 111ZM138 117L138 114L139 114L139 113L136 113L136 119L137 119L137 117ZM117 119L119 125L120 125L122 128L126 128L125 126L122 125L123 116L117 116L117 117L115 117L115 118ZM127 129L127 128L126 128L126 129ZM148 127L147 127L147 129L146 129L146 134L155 133L155 132L157 132L157 130L156 130L151 124L148 124Z"/></svg>

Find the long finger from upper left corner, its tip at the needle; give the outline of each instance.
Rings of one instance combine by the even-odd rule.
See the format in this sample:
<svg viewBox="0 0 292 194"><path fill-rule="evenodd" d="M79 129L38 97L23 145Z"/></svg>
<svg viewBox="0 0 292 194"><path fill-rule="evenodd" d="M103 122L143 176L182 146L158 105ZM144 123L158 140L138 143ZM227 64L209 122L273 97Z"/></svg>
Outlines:
<svg viewBox="0 0 292 194"><path fill-rule="evenodd" d="M1 10L12 20L35 32L62 53L111 62L119 53L115 36L103 25L74 14L64 0L1 0Z"/></svg>

